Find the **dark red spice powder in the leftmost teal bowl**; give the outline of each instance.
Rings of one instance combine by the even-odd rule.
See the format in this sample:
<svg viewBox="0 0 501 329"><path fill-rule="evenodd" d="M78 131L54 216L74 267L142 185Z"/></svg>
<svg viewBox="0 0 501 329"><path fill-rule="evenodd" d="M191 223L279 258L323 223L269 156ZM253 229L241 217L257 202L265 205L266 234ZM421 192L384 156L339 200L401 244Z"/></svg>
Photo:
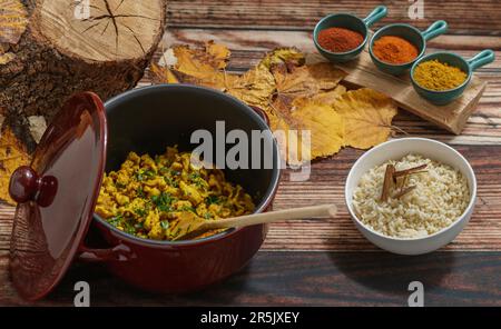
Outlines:
<svg viewBox="0 0 501 329"><path fill-rule="evenodd" d="M364 37L345 28L328 28L320 31L318 44L331 52L346 52L364 42Z"/></svg>

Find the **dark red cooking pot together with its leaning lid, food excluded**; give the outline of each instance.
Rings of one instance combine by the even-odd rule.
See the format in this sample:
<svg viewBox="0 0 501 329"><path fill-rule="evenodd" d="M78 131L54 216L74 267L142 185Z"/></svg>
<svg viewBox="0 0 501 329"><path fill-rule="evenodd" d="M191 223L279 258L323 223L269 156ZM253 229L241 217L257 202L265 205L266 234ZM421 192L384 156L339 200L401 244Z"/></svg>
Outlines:
<svg viewBox="0 0 501 329"><path fill-rule="evenodd" d="M82 101L82 99L86 101ZM72 101L75 102L76 100L73 99ZM80 111L85 107L90 108L92 106L96 107L95 112L99 113L101 111L99 100L94 94L87 93L85 97L77 97L77 102L86 103L86 106L79 107ZM65 111L71 112L71 107L75 107L75 104L67 104ZM92 139L90 142L97 144L97 141L100 141L105 146L107 150L106 156L102 156L100 160L104 161L104 158L106 158L106 171L118 169L130 151L140 154L159 154L165 152L166 147L176 144L180 151L190 151L197 146L190 141L194 131L205 129L212 136L220 133L220 129L219 131L217 130L217 127L220 128L220 122L217 126L216 121L224 121L225 132L234 129L243 130L248 136L252 136L252 131L264 132L261 148L256 150L252 144L249 146L248 158L271 159L267 163L272 163L272 166L268 166L267 169L224 171L229 181L242 185L254 197L257 207L256 212L265 211L269 207L281 175L279 153L276 141L265 120L263 120L263 113L257 109L250 109L240 101L214 90L183 84L164 84L136 89L109 100L105 108L107 129L105 124L104 130L90 128L89 130L100 131L100 133L95 133L100 134L100 137ZM81 113L73 113L73 117L84 118L81 119L82 122L95 122L96 126L99 126L99 119L92 121L88 118L86 119L86 116ZM96 117L100 116L96 114ZM57 131L58 129L62 130L65 124L67 124L65 122L68 120L56 119L55 121L56 123L60 121L57 123ZM102 123L102 118L100 123ZM78 128L78 126L85 124L80 122L75 126ZM92 124L88 126L92 127ZM49 130L51 129L49 128ZM53 132L55 130L52 129L52 134ZM58 137L60 140L60 136ZM73 143L87 146L89 141L80 138ZM51 142L50 138L46 138L46 142L42 139L40 146L42 144L53 144L53 142ZM61 144L68 149L75 149L72 143L61 142ZM213 146L217 148L220 147L220 143L216 143L216 140L214 140ZM228 149L230 147L227 146ZM100 232L109 248L90 249L86 247L84 238L89 227L89 220L86 220L87 211L91 211L95 207L96 193L100 188L102 164L98 163L98 160L87 159L96 157L96 152L92 152L91 149L84 147L82 150L87 156L84 156L82 159L73 159L73 161L77 161L72 163L77 171L73 172L73 179L78 177L80 171L81 176L84 176L81 181L89 180L87 179L89 173L84 169L85 167L78 166L85 160L94 161L96 162L96 168L101 168L99 177L89 180L97 182L95 182L94 189L91 191L88 190L85 196L79 197L71 193L58 196L56 193L55 200L49 200L52 205L45 201L47 198L39 199L40 193L30 189L32 186L39 191L46 189L41 183L48 180L46 179L46 176L48 176L46 175L47 170L43 169L43 168L32 166L35 170L20 169L17 171L17 176L14 175L16 177L12 178L11 192L17 193L16 198L18 201L24 202L18 207L19 216L17 215L17 218L19 217L22 220L18 218L18 225L14 223L12 236L14 241L11 251L12 273L14 285L26 298L38 299L48 293L65 273L72 259L71 255L77 255L79 259L86 261L104 262L112 273L136 287L155 292L185 292L212 285L239 270L262 246L267 230L266 226L263 225L234 229L199 240L170 242L154 241L127 235L106 222L99 216L94 215L94 226L98 228L97 231ZM65 152L67 151L65 150ZM60 154L63 151L58 151L57 153ZM71 159L75 157L62 158L65 159L60 161L71 162ZM46 163L48 161L41 162ZM217 163L218 167L220 164ZM65 170L71 171L68 167L70 164L65 164ZM31 176L36 178L31 179ZM69 177L59 176L57 170L51 171L51 177L56 182L53 190L62 190L61 186L71 186L72 183ZM49 179L48 181L52 180ZM30 191L27 192L27 190ZM89 199L89 197L91 198ZM53 213L49 211L51 208L62 207L58 206L60 203L75 203L76 200L80 201L80 199L85 200L80 202L81 205L77 203L84 210L73 210L73 213L67 213L67 216L80 216L82 218L76 220L77 223L68 226L71 229L66 231L70 233L70 239L61 239L61 236L63 236L61 233L62 230L58 230L56 233L52 233L56 230L47 230L51 226L57 229L56 223L51 221L51 217L53 217ZM29 201L27 202L27 200ZM31 209L33 208L31 206L37 202L38 206L35 211ZM73 209L76 208L73 207ZM37 215L39 212L41 216ZM89 219L91 215L89 215ZM32 225L32 222L41 222L42 225ZM43 225L45 222L49 225L46 226ZM37 233L26 233L24 227L39 227L40 230ZM37 248L33 248L40 250L35 250L35 252L30 250L29 255L43 255L47 260L43 260L43 269L36 272L31 270L33 268L31 263L39 261L40 258L32 258L24 251L26 246L32 243L31 240L33 239L42 240L42 243L38 243ZM59 243L65 247L59 248L62 250L62 252L58 253L59 258L55 257L52 252L52 247L59 246L53 242L53 239L63 241ZM47 275L48 278L39 279L45 272L49 272ZM23 282L27 281L36 281L36 283L26 287Z"/></svg>

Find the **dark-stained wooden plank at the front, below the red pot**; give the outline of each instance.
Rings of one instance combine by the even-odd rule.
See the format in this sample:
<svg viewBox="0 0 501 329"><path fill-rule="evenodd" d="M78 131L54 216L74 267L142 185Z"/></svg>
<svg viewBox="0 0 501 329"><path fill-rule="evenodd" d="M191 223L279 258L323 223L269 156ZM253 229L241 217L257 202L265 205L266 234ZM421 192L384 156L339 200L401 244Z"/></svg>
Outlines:
<svg viewBox="0 0 501 329"><path fill-rule="evenodd" d="M31 305L6 281L0 253L0 306ZM279 271L277 270L279 269ZM224 283L186 296L146 293L99 266L73 265L37 306L72 306L73 286L90 285L91 306L406 306L411 281L424 285L425 306L501 306L501 252L259 251Z"/></svg>

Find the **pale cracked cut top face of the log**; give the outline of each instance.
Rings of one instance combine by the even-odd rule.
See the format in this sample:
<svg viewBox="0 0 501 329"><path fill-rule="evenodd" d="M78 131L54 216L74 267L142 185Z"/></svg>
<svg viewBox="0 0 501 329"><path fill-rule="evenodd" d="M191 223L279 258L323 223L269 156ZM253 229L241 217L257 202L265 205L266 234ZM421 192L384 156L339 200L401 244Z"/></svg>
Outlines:
<svg viewBox="0 0 501 329"><path fill-rule="evenodd" d="M79 12L69 2L43 1L35 21L40 36L71 58L88 62L141 61L155 50L163 32L161 1L91 1L88 17L85 9Z"/></svg>

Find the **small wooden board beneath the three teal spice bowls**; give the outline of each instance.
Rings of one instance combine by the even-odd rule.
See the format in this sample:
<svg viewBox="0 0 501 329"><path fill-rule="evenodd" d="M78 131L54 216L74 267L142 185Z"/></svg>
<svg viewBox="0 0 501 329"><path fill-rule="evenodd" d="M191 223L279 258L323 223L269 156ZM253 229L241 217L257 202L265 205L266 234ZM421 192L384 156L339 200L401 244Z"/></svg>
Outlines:
<svg viewBox="0 0 501 329"><path fill-rule="evenodd" d="M311 54L308 61L325 61L325 59L315 53ZM400 108L455 134L460 134L463 130L487 86L485 82L473 76L470 86L459 99L446 106L434 106L415 92L409 74L394 77L380 71L372 62L366 49L357 59L336 66L348 73L344 79L347 84L381 91L391 97Z"/></svg>

